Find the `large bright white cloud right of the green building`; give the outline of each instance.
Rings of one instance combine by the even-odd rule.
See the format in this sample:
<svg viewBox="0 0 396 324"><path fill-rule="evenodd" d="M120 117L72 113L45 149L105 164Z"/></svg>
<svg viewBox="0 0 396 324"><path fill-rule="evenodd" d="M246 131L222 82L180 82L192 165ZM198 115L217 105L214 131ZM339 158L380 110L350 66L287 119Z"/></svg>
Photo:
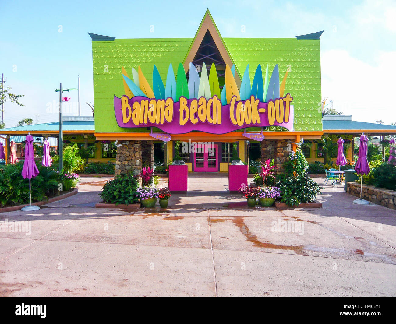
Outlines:
<svg viewBox="0 0 396 324"><path fill-rule="evenodd" d="M321 53L322 96L333 100L334 108L352 114L353 120L385 124L396 122L394 76L396 51L383 52L375 65L352 57L345 50Z"/></svg>

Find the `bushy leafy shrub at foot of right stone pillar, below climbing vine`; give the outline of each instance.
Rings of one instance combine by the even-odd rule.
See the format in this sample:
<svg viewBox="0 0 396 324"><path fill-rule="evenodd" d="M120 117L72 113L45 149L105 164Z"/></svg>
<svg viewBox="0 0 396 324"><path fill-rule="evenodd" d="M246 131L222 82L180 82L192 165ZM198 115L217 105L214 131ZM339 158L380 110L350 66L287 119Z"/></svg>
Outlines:
<svg viewBox="0 0 396 324"><path fill-rule="evenodd" d="M291 175L280 179L276 186L282 191L281 201L293 206L302 202L314 201L317 194L321 193L322 187L316 183L308 173Z"/></svg>

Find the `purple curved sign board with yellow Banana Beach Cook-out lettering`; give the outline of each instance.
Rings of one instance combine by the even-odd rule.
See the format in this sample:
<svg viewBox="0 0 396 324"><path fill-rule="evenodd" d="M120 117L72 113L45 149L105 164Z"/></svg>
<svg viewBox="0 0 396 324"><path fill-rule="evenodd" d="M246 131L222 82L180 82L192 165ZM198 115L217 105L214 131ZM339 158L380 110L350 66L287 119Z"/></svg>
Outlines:
<svg viewBox="0 0 396 324"><path fill-rule="evenodd" d="M180 97L149 99L135 96L114 96L114 113L118 126L122 128L156 127L169 134L191 131L225 134L247 127L282 126L293 130L293 97L259 102L252 95L247 100L236 100L221 105L215 95L209 99L187 99Z"/></svg>

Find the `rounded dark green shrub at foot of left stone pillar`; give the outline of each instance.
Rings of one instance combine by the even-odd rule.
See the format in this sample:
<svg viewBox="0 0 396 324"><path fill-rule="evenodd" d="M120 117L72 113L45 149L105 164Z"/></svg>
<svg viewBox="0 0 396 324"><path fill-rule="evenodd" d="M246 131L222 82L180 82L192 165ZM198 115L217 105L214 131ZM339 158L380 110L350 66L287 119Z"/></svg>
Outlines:
<svg viewBox="0 0 396 324"><path fill-rule="evenodd" d="M139 183L131 174L122 174L114 180L107 181L103 186L100 197L110 204L133 204L139 201L137 188Z"/></svg>

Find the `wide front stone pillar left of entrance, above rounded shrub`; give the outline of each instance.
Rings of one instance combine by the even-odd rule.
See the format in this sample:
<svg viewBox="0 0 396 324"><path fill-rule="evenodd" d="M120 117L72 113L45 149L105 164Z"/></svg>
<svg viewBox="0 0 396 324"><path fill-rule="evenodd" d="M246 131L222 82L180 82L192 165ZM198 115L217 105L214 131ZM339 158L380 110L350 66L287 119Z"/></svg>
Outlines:
<svg viewBox="0 0 396 324"><path fill-rule="evenodd" d="M124 142L125 143L125 142ZM116 171L114 175L142 170L142 141L129 141L117 148Z"/></svg>

